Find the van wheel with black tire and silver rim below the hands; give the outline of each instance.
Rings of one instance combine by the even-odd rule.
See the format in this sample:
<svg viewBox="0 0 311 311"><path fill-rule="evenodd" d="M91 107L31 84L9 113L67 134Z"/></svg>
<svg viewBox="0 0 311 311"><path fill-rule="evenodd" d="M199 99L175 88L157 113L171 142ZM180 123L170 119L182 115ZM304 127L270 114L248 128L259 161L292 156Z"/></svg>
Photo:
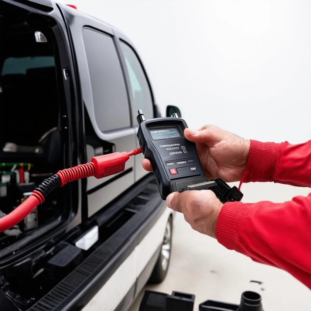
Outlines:
<svg viewBox="0 0 311 311"><path fill-rule="evenodd" d="M166 277L167 271L169 270L169 262L171 259L172 232L173 220L172 216L170 216L165 227L165 233L159 257L148 281L149 284L159 284Z"/></svg>

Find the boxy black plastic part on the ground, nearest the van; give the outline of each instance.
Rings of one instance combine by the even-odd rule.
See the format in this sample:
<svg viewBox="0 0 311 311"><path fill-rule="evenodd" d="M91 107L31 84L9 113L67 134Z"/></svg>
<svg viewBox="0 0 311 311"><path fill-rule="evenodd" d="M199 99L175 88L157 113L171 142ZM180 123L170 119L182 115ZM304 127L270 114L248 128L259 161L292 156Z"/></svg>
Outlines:
<svg viewBox="0 0 311 311"><path fill-rule="evenodd" d="M146 290L139 311L193 311L195 295L173 291L172 295Z"/></svg>

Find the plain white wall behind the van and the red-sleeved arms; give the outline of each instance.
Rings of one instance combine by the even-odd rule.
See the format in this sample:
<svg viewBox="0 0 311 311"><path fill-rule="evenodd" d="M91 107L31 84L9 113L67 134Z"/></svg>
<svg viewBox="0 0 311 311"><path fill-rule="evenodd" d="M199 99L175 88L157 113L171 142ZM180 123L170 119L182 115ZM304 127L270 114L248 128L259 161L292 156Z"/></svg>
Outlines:
<svg viewBox="0 0 311 311"><path fill-rule="evenodd" d="M190 127L209 123L262 141L311 139L310 1L70 4L128 35L163 114L174 104ZM248 201L283 201L308 192L271 184L244 187Z"/></svg>

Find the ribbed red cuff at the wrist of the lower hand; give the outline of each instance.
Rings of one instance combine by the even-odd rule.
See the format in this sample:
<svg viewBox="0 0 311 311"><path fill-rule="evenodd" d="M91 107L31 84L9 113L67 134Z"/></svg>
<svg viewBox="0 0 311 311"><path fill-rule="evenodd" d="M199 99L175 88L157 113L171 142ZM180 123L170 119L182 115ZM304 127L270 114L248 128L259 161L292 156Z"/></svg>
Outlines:
<svg viewBox="0 0 311 311"><path fill-rule="evenodd" d="M247 203L226 202L220 210L216 224L216 239L228 249L239 252L239 230L248 214Z"/></svg>

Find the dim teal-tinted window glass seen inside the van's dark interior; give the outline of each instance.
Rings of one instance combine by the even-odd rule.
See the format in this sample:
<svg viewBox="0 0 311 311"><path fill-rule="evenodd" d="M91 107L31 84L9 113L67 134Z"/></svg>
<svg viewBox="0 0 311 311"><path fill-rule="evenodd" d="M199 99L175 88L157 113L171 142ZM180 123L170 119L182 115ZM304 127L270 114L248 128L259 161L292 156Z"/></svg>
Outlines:
<svg viewBox="0 0 311 311"><path fill-rule="evenodd" d="M2 67L1 75L26 74L30 68L54 67L53 56L9 57Z"/></svg>

